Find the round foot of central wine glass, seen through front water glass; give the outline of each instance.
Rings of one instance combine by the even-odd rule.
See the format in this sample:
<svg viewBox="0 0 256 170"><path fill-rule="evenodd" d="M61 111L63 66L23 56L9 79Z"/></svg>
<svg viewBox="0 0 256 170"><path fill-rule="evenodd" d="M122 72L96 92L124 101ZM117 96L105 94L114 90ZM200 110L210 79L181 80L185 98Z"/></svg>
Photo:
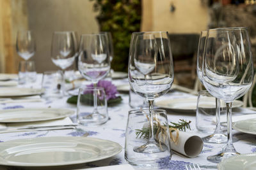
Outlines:
<svg viewBox="0 0 256 170"><path fill-rule="evenodd" d="M146 144L134 147L133 151L138 153L157 153L157 152L164 152L167 150L165 145L159 145L156 142L148 141Z"/></svg>

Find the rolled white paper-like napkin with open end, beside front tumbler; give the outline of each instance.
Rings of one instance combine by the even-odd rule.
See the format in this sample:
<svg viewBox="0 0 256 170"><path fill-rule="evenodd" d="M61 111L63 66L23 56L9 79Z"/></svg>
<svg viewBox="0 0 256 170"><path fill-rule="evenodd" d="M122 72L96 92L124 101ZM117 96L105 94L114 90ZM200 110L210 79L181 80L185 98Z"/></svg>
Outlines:
<svg viewBox="0 0 256 170"><path fill-rule="evenodd" d="M172 134L176 136L176 132L172 132ZM198 156L202 152L203 146L204 142L199 136L183 131L179 131L179 142L177 144L171 140L172 150L191 158Z"/></svg>

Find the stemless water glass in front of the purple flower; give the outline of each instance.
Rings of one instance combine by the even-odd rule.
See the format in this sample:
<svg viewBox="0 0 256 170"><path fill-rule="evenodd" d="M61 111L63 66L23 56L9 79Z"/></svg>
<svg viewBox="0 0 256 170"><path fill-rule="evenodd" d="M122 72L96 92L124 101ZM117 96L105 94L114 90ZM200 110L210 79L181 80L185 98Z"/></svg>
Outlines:
<svg viewBox="0 0 256 170"><path fill-rule="evenodd" d="M77 123L97 126L107 121L108 104L105 90L102 87L81 87L77 98Z"/></svg>

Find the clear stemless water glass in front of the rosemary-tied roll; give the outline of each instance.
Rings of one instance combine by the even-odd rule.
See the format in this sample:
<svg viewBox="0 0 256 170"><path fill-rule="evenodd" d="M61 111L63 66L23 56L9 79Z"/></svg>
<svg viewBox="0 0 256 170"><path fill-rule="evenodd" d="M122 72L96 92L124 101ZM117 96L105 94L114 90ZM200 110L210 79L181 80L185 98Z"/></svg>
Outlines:
<svg viewBox="0 0 256 170"><path fill-rule="evenodd" d="M143 146L148 146L147 141L150 128L150 114L153 118L154 139L160 152L145 153ZM168 120L164 110L131 110L129 111L125 132L125 160L132 166L143 168L156 168L163 160L171 159L170 132L167 128ZM141 136L139 130L147 132ZM145 144L146 143L146 144ZM140 150L138 151L138 148Z"/></svg>

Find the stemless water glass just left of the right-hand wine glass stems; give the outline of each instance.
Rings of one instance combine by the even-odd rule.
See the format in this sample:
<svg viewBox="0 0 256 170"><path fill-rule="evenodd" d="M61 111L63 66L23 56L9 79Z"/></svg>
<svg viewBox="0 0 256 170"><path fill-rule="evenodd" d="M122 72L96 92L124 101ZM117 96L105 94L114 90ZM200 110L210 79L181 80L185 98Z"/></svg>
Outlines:
<svg viewBox="0 0 256 170"><path fill-rule="evenodd" d="M225 114L225 103L220 101L220 114ZM198 92L196 104L196 129L213 132L216 129L216 98L207 90Z"/></svg>

